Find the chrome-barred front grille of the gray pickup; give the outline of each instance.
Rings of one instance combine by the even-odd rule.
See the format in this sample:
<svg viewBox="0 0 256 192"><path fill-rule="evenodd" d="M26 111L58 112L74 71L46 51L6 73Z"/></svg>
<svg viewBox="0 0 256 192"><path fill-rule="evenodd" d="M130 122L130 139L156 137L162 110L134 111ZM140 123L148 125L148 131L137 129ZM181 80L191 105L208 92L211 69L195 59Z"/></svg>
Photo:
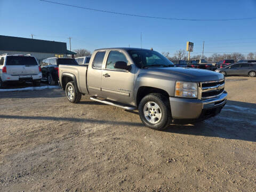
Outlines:
<svg viewBox="0 0 256 192"><path fill-rule="evenodd" d="M211 82L200 82L199 87L199 99L212 99L217 98L221 95L225 88L225 80L221 79L219 81Z"/></svg>

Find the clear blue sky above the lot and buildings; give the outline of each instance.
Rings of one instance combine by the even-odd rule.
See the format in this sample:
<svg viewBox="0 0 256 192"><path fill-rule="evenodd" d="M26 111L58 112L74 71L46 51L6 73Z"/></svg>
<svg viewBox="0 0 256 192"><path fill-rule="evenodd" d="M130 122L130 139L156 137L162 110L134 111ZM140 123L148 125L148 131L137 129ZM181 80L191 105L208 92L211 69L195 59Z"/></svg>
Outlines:
<svg viewBox="0 0 256 192"><path fill-rule="evenodd" d="M50 0L51 1L51 0ZM256 0L214 1L68 1L72 4L130 14L166 18L233 19L256 17ZM0 35L66 42L69 49L142 47L174 54L194 42L194 52L256 52L256 19L240 21L175 21L129 17L45 3L39 0L0 0ZM4 21L4 22L3 22Z"/></svg>

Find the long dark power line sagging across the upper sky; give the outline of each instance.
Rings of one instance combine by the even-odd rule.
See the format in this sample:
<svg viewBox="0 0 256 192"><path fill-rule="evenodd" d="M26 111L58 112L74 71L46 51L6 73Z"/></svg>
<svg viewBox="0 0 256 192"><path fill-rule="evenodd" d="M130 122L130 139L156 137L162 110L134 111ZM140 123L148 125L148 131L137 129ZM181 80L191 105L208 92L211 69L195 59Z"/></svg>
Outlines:
<svg viewBox="0 0 256 192"><path fill-rule="evenodd" d="M39 0L39 1L47 2L47 3L53 3L53 4L58 4L58 5L65 5L65 6L70 6L70 7L76 7L76 8L79 8L79 9L86 9L86 10L90 10L90 11L98 11L98 12L104 12L104 13L112 13L112 14L126 15L126 16L132 16L132 17L141 17L141 18L151 18L151 19L183 20L183 21L237 21L237 20L251 20L251 19L256 19L256 17L252 17L252 18L237 18L237 19L164 18L164 17L154 17L154 16L147 16L147 15L139 15L139 14L131 14L131 13L119 13L119 12L114 12L114 11L106 11L106 10L92 9L92 8L89 8L89 7L82 7L82 6L77 6L77 5L70 5L70 4L64 4L64 3L58 3L58 2L46 1L46 0Z"/></svg>

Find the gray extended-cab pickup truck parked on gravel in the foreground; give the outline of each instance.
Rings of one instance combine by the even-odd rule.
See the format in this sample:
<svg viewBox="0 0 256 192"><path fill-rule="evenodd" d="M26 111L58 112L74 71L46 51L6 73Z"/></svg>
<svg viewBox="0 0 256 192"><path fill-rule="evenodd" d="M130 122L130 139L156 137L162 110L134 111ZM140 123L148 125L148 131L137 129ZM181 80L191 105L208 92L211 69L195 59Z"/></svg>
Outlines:
<svg viewBox="0 0 256 192"><path fill-rule="evenodd" d="M222 74L173 67L156 51L130 47L95 50L88 66L60 65L59 83L72 103L89 94L94 101L138 109L141 121L156 130L215 116L227 102Z"/></svg>

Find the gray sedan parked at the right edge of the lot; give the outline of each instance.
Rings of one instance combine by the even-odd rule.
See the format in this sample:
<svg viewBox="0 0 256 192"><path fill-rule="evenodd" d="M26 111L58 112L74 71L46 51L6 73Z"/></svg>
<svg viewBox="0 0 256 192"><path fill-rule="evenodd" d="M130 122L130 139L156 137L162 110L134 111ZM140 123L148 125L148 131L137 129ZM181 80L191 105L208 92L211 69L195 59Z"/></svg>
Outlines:
<svg viewBox="0 0 256 192"><path fill-rule="evenodd" d="M223 74L227 75L248 75L250 77L256 76L256 63L234 63L228 65L226 67L222 67L220 69L215 70Z"/></svg>

